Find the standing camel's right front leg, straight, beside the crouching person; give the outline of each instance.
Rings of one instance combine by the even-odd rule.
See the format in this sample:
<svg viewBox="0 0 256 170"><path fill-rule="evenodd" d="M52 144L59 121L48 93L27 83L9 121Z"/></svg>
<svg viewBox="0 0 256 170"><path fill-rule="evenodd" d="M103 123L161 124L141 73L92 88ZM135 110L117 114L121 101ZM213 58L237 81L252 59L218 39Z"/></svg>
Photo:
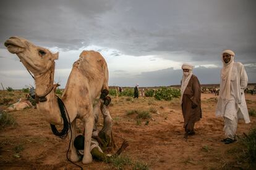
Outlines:
<svg viewBox="0 0 256 170"><path fill-rule="evenodd" d="M92 155L91 155L91 139L92 139L92 131L93 131L93 113L92 113L92 106L90 109L87 110L88 116L87 118L83 119L83 124L85 127L85 150L83 153L83 163L88 164L92 163Z"/></svg>

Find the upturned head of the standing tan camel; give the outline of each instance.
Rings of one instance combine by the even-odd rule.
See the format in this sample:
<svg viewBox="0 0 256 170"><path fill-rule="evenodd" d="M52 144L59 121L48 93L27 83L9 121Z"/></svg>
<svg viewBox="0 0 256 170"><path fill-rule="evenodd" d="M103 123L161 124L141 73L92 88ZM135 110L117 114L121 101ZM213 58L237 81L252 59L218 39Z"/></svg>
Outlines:
<svg viewBox="0 0 256 170"><path fill-rule="evenodd" d="M38 47L26 39L12 36L4 42L4 46L12 54L17 54L20 62L34 75L45 73L54 65L59 54L53 54L48 49Z"/></svg>

